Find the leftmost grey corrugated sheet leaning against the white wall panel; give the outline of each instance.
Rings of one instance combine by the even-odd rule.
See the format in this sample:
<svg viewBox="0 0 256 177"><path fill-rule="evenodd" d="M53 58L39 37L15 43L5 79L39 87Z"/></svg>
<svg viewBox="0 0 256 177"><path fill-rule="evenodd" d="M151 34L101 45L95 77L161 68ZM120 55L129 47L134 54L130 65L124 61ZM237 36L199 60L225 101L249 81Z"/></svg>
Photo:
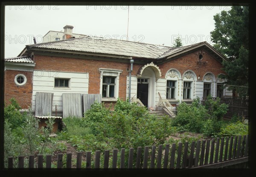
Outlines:
<svg viewBox="0 0 256 177"><path fill-rule="evenodd" d="M35 116L52 116L53 93L36 92Z"/></svg>

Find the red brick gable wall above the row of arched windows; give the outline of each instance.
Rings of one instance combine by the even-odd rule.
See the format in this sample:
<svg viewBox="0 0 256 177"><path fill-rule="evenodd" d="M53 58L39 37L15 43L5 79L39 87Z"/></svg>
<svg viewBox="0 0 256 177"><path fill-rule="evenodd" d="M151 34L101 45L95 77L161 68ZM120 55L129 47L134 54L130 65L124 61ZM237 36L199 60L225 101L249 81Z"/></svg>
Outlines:
<svg viewBox="0 0 256 177"><path fill-rule="evenodd" d="M162 78L166 76L166 72L169 71L169 69L171 68L179 70L181 76L185 71L192 70L195 72L197 77L200 75L201 80L203 80L204 74L206 74L207 72L212 72L215 75L215 77L217 77L218 74L225 73L223 70L221 70L221 63L215 60L206 51L202 51L202 54L203 59L201 60L201 62L207 62L205 64L198 63L199 51L195 51L193 53L187 54L183 57L177 58L175 60L169 61L158 66L162 72Z"/></svg>

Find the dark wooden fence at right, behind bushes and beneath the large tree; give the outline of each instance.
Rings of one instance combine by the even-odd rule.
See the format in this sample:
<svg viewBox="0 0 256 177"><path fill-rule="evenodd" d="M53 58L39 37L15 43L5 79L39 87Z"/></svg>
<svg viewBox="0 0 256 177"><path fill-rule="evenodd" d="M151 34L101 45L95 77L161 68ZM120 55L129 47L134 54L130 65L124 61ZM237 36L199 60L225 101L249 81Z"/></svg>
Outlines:
<svg viewBox="0 0 256 177"><path fill-rule="evenodd" d="M207 97L203 97L202 104L205 105ZM212 97L216 100L216 97ZM227 104L228 110L224 117L232 118L233 115L243 116L249 118L249 98L248 97L233 97L233 96L222 96L220 97L221 103Z"/></svg>

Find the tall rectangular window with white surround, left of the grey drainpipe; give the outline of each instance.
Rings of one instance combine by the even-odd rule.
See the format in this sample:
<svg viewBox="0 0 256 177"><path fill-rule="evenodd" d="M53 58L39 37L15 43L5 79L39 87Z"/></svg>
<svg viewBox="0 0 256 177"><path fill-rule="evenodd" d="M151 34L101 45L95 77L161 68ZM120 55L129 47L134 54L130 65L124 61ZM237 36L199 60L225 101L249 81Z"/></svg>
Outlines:
<svg viewBox="0 0 256 177"><path fill-rule="evenodd" d="M119 97L119 76L122 70L100 68L99 72L102 100L115 101Z"/></svg>

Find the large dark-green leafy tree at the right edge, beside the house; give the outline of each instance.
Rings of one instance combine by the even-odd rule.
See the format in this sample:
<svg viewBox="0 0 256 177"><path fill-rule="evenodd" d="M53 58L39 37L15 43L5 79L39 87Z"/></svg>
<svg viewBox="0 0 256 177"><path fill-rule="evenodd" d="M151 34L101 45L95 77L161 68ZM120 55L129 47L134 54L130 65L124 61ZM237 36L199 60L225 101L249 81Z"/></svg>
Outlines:
<svg viewBox="0 0 256 177"><path fill-rule="evenodd" d="M222 78L227 79L225 84L239 96L248 95L248 12L248 6L221 11L214 16L215 29L210 32L213 47L227 57L227 61L222 62L227 75Z"/></svg>

